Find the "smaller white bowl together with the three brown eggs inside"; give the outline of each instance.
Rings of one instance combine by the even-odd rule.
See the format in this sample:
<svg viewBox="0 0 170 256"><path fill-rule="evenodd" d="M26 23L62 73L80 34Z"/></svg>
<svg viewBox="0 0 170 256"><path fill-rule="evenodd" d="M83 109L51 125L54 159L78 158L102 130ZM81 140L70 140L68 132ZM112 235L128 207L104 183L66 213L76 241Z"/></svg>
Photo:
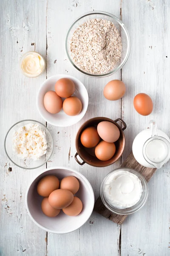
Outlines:
<svg viewBox="0 0 170 256"><path fill-rule="evenodd" d="M63 92L66 97L59 97L56 93L55 85L59 79L62 79L62 84L59 84L59 88L61 89L61 87L64 85ZM69 80L71 80L70 84L67 84ZM74 84L74 90L71 90L71 83ZM75 100L74 102L73 98ZM58 105L56 105L56 102L58 102ZM77 113L74 110L75 108ZM74 125L82 119L87 111L87 108L88 92L82 82L73 76L51 76L43 82L37 93L37 109L42 118L51 125L59 127Z"/></svg>

